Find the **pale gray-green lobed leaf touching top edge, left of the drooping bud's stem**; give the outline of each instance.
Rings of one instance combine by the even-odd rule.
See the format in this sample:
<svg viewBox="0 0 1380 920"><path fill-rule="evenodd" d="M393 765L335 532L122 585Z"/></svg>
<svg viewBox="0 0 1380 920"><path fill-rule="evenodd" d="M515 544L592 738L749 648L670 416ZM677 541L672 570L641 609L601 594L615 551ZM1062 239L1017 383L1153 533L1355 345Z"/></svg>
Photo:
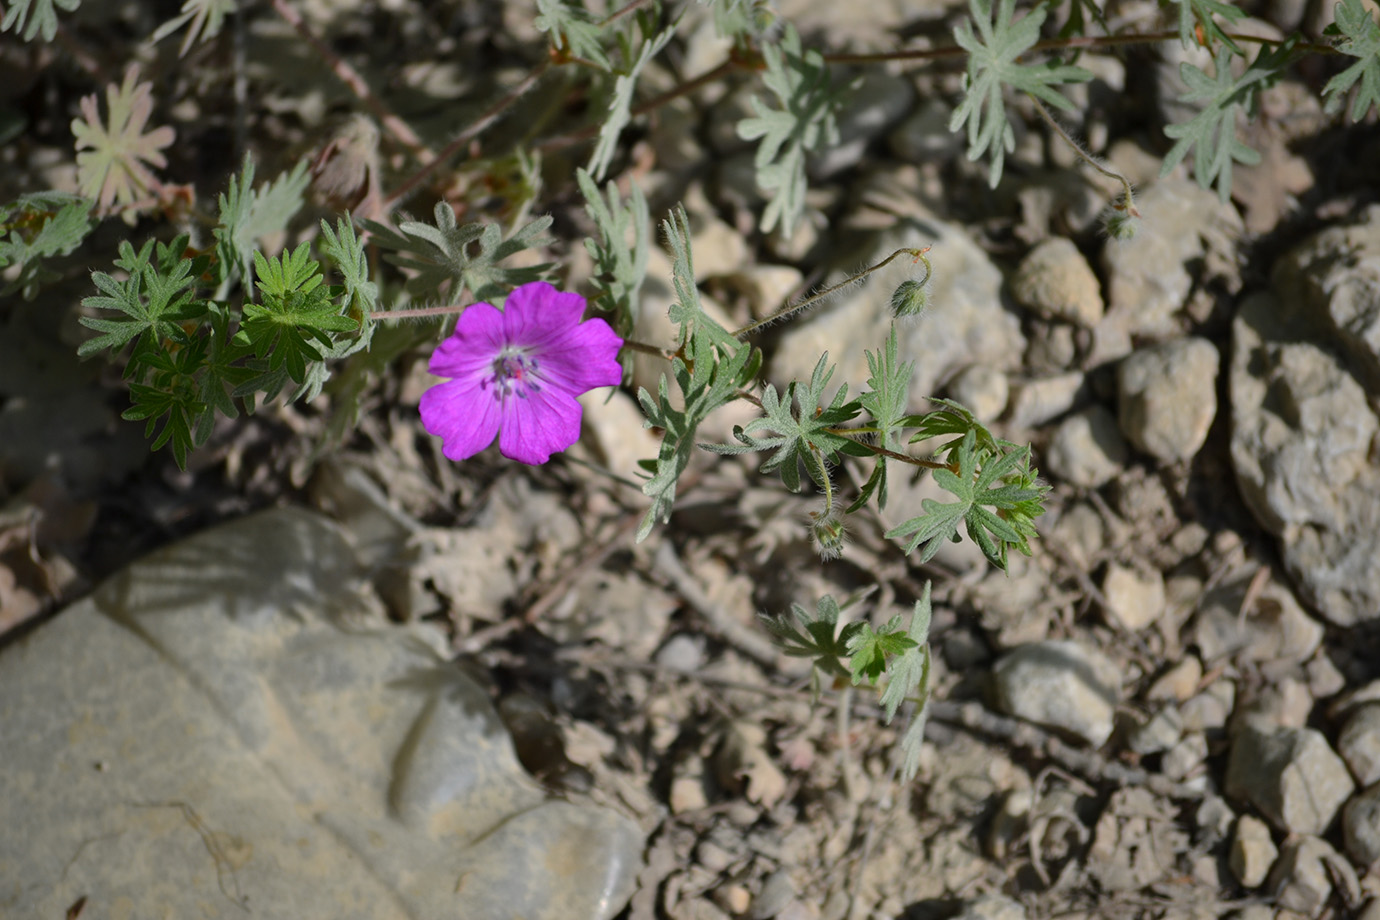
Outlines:
<svg viewBox="0 0 1380 920"><path fill-rule="evenodd" d="M1093 74L1083 68L1049 62L1020 63L1018 58L1039 40L1039 28L1049 10L1039 6L1020 22L1013 23L1016 0L998 0L996 18L991 0L969 0L973 26L965 22L954 29L954 40L967 51L967 72L963 74L963 101L949 119L949 131L967 126L967 159L977 160L984 153L991 160L988 183L995 189L1002 181L1006 154L1016 149L1016 132L1006 117L1002 87L1012 87L1047 102L1056 109L1071 110L1074 103L1054 90L1061 83L1082 83Z"/></svg>

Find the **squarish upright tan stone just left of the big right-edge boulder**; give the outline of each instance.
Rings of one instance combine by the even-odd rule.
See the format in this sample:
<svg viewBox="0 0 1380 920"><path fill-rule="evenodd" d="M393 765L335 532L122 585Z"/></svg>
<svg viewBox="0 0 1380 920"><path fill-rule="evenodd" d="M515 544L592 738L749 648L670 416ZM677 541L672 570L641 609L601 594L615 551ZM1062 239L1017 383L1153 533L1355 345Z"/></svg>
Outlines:
<svg viewBox="0 0 1380 920"><path fill-rule="evenodd" d="M1217 348L1184 338L1144 348L1116 366L1126 439L1165 463L1192 459L1217 417Z"/></svg>

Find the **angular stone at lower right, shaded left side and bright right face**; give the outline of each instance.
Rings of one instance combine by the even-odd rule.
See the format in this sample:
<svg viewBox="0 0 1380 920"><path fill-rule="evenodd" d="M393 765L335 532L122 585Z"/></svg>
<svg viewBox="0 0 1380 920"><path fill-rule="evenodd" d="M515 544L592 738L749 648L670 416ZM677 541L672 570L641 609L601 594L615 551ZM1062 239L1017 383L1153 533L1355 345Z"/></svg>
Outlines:
<svg viewBox="0 0 1380 920"><path fill-rule="evenodd" d="M1319 834L1332 825L1355 782L1321 732L1263 731L1246 724L1231 745L1225 788L1281 830Z"/></svg>

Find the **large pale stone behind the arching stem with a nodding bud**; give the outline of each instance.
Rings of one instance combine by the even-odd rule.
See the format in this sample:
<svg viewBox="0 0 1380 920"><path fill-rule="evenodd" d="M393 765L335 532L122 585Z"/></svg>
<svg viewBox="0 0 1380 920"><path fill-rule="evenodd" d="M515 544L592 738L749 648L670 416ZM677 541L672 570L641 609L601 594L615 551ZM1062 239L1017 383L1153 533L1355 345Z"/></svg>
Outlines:
<svg viewBox="0 0 1380 920"><path fill-rule="evenodd" d="M927 258L936 268L943 266L930 283L929 310L897 323L898 350L915 361L914 407L934 394L940 381L965 367L983 364L1007 371L1020 364L1025 339L1016 314L1002 306L1002 273L965 229L922 214L872 233L869 240L861 251L835 259L829 283L900 248L931 246ZM865 352L878 352L886 343L891 292L922 273L922 266L900 257L868 276L861 287L853 286L831 303L792 320L776 348L769 379L778 388L792 379L807 381L820 354L828 352L829 361L838 366L829 386L849 383L854 390L869 377Z"/></svg>

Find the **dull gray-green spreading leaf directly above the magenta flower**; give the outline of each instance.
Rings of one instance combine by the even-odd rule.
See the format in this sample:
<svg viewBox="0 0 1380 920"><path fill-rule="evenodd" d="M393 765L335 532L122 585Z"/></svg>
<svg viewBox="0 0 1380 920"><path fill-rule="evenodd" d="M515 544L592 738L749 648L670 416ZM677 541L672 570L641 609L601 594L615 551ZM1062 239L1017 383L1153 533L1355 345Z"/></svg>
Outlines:
<svg viewBox="0 0 1380 920"><path fill-rule="evenodd" d="M494 223L465 223L457 226L455 212L444 201L436 203L436 223L403 221L392 230L377 221L364 221L374 240L396 255L385 257L393 265L414 272L407 291L417 297L440 297L446 290L451 299L460 299L469 290L476 301L502 299L512 288L529 281L540 281L551 262L520 268L504 268L504 259L527 248L546 246L544 236L552 218L540 217L516 230L508 239Z"/></svg>

